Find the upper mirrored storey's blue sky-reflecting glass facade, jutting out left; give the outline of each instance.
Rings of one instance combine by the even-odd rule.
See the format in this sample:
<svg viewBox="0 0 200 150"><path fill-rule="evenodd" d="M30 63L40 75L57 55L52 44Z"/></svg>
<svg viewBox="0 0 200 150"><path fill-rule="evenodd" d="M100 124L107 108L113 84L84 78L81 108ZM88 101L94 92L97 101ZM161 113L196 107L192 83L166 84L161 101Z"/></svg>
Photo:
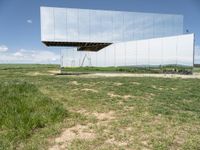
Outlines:
<svg viewBox="0 0 200 150"><path fill-rule="evenodd" d="M41 7L42 41L116 43L183 33L183 16Z"/></svg>

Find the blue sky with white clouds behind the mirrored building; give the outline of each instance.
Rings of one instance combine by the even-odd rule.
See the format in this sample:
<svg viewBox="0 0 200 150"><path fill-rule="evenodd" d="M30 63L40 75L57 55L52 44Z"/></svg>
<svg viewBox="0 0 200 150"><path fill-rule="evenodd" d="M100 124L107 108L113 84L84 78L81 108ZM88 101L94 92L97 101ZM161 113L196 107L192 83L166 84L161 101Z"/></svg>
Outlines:
<svg viewBox="0 0 200 150"><path fill-rule="evenodd" d="M0 63L59 63L60 48L41 43L40 6L182 14L200 55L200 0L0 0Z"/></svg>

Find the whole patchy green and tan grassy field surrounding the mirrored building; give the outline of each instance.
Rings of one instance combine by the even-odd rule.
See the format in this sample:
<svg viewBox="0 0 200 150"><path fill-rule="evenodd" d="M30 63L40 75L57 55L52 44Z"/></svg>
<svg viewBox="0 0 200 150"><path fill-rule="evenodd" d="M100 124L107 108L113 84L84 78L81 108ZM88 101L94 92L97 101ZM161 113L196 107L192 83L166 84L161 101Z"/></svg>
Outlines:
<svg viewBox="0 0 200 150"><path fill-rule="evenodd" d="M200 79L58 69L0 65L0 149L200 149Z"/></svg>

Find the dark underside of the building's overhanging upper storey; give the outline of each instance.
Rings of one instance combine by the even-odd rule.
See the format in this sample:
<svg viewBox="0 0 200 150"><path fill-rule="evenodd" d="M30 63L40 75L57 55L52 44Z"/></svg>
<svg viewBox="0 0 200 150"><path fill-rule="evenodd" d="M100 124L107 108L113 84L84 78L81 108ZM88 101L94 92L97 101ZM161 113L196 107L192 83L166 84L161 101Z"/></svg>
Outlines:
<svg viewBox="0 0 200 150"><path fill-rule="evenodd" d="M77 47L78 51L99 51L112 43L42 41L46 46Z"/></svg>

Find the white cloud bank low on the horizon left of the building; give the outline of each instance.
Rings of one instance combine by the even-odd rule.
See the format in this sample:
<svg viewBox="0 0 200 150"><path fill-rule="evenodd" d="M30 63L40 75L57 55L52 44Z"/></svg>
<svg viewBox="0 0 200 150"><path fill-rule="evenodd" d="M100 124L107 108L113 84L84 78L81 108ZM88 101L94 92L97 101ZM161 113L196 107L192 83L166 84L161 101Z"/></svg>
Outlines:
<svg viewBox="0 0 200 150"><path fill-rule="evenodd" d="M59 54L47 50L21 49L14 53L6 52L0 55L0 63L58 64L59 60Z"/></svg>

